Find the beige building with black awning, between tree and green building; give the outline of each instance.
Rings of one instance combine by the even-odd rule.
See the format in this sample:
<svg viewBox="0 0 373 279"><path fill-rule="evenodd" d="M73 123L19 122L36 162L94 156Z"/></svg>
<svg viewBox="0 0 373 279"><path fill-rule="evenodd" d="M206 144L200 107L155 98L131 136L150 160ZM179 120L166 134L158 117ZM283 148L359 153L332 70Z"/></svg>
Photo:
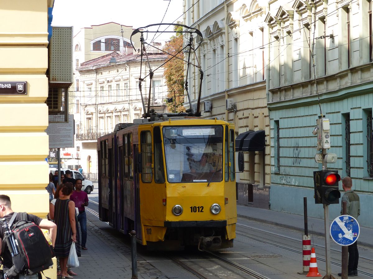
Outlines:
<svg viewBox="0 0 373 279"><path fill-rule="evenodd" d="M256 0L184 1L184 11L189 9L185 25L203 33L197 51L204 71L203 117L234 122L236 137L250 130L265 131L264 151L245 152L245 171L238 183L238 202L263 208L269 207L270 185L266 6ZM188 77L192 105L197 103L199 78L197 68L192 68ZM210 108L206 109L206 101Z"/></svg>

